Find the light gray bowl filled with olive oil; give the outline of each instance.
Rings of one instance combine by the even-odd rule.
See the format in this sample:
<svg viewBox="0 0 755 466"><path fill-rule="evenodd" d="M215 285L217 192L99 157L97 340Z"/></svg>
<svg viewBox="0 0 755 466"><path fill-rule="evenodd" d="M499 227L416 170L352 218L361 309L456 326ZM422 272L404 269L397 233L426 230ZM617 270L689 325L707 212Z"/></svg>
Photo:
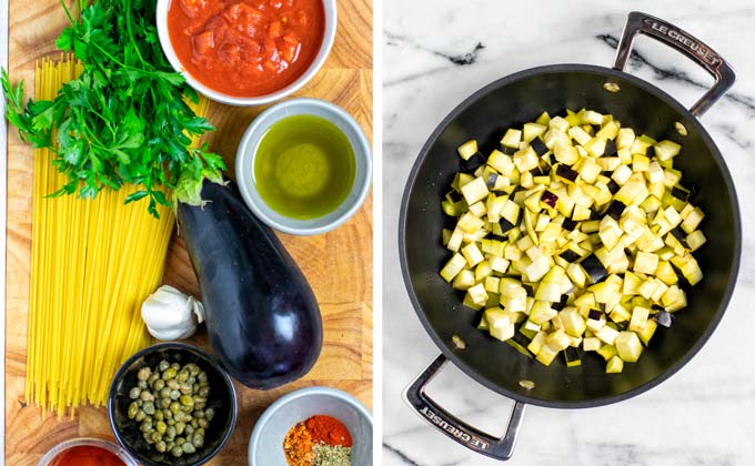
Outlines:
<svg viewBox="0 0 755 466"><path fill-rule="evenodd" d="M359 123L316 99L292 99L262 112L236 152L246 205L271 227L314 235L346 222L370 190L372 156Z"/></svg>

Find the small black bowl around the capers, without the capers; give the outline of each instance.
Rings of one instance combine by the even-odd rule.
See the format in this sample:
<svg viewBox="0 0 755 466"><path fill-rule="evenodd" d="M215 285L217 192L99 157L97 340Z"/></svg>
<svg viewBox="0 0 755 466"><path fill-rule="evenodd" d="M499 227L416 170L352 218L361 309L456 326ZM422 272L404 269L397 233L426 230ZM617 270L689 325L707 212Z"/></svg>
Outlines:
<svg viewBox="0 0 755 466"><path fill-rule="evenodd" d="M208 407L215 409L215 417L205 429L204 446L180 458L169 452L159 453L154 445L144 442L139 423L127 416L132 402L129 391L137 385L137 372L144 366L154 367L162 359L181 365L194 363L204 371L210 382ZM161 343L135 353L118 369L110 385L110 427L118 443L144 466L197 466L207 463L228 443L235 426L236 413L235 389L225 371L202 350L183 343Z"/></svg>

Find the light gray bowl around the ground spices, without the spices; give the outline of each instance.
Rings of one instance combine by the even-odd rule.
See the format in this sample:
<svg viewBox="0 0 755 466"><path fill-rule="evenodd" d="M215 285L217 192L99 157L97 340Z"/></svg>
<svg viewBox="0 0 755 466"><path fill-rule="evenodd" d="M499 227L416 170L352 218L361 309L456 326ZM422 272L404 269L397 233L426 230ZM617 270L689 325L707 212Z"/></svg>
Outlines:
<svg viewBox="0 0 755 466"><path fill-rule="evenodd" d="M272 405L254 425L249 442L249 466L285 465L283 440L294 425L323 414L341 421L354 446L351 464L372 466L372 414L345 392L328 387L302 388Z"/></svg>

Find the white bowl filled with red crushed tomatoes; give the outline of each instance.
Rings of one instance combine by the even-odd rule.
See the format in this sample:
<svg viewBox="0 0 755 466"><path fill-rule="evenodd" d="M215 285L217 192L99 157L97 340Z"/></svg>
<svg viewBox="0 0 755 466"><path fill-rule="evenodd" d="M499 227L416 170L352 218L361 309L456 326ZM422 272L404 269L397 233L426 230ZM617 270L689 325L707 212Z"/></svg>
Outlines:
<svg viewBox="0 0 755 466"><path fill-rule="evenodd" d="M262 105L302 88L330 53L335 0L158 0L170 64L198 92Z"/></svg>

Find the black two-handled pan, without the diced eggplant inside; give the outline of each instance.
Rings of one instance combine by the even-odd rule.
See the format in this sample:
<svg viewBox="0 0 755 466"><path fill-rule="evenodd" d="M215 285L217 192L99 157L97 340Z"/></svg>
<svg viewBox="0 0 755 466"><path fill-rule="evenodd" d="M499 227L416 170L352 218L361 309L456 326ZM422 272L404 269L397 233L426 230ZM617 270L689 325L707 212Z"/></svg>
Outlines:
<svg viewBox="0 0 755 466"><path fill-rule="evenodd" d="M654 85L623 72L637 33L681 51L715 78L713 88L687 110ZM525 404L582 408L616 403L668 378L708 340L732 295L739 264L739 211L732 178L721 152L697 120L734 83L734 70L693 36L657 18L628 16L613 69L557 64L522 71L481 89L451 112L422 149L412 169L401 209L400 254L412 304L425 330L442 351L407 388L405 398L426 421L449 437L483 455L507 459ZM617 92L610 92L617 85ZM449 253L441 244L444 214L441 200L459 171L456 146L476 138L483 152L497 145L503 131L534 120L543 111L563 113L582 108L612 113L625 126L657 140L682 144L675 168L697 183L692 199L706 212L703 230L708 243L695 255L704 280L687 288L688 306L672 328L656 332L637 364L622 374L605 374L605 363L586 357L582 366L563 362L545 367L476 328L479 315L462 306L461 296L439 275ZM674 128L682 123L687 135ZM460 350L452 338L465 343ZM432 377L451 361L486 387L516 401L503 438L487 435L447 413L425 394Z"/></svg>

